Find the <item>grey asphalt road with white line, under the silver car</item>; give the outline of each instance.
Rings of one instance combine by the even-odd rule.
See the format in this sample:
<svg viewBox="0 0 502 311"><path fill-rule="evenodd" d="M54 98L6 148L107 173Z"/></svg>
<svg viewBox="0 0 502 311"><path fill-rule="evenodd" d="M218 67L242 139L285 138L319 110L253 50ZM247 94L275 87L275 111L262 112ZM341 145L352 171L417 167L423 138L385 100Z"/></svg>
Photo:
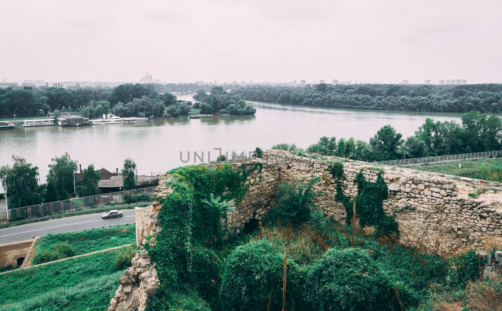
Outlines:
<svg viewBox="0 0 502 311"><path fill-rule="evenodd" d="M136 222L134 209L122 210L123 216L113 219L101 219L103 213L71 216L0 229L0 244L28 240L49 233L81 231Z"/></svg>

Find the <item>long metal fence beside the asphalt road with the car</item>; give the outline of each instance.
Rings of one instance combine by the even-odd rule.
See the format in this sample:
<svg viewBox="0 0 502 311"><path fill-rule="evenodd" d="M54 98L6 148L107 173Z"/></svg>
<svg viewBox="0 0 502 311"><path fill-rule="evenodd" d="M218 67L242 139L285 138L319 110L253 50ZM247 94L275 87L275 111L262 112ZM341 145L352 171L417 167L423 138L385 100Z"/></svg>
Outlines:
<svg viewBox="0 0 502 311"><path fill-rule="evenodd" d="M68 200L24 206L23 208L17 209L9 209L7 211L0 212L0 224L52 215L61 215L66 213L99 209L102 208L102 206L110 206L111 208L115 204L128 203L128 201L133 201L132 203L134 203L136 201L137 195L140 195L144 192L148 193L149 199L153 199L154 191L154 187L149 187L128 191L109 192L91 196L76 197ZM130 196L127 193L129 193Z"/></svg>

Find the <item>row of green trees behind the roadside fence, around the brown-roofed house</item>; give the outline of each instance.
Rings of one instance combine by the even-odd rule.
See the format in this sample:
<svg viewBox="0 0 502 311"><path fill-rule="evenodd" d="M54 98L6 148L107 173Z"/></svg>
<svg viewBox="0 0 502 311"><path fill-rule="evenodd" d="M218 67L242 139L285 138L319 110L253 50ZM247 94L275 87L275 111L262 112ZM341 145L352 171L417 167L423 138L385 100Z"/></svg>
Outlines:
<svg viewBox="0 0 502 311"><path fill-rule="evenodd" d="M99 170L94 169L94 164L89 164L82 170L82 179L74 181L77 171L77 161L71 159L66 152L60 157L51 159L46 183L39 184L39 171L37 166L28 163L26 159L12 156L13 164L0 167L0 180L7 185L7 198L10 209L23 206L67 200L68 193L78 196L99 194L98 182L101 179ZM124 160L122 173L122 190L137 188L136 162L131 158ZM7 177L5 177L7 176ZM75 182L75 184L74 184Z"/></svg>

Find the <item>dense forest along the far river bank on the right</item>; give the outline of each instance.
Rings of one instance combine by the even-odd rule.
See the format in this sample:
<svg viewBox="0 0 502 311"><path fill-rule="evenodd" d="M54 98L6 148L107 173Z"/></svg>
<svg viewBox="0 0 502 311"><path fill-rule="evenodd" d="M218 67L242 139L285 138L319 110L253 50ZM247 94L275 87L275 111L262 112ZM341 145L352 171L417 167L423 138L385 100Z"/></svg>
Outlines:
<svg viewBox="0 0 502 311"><path fill-rule="evenodd" d="M313 87L240 87L231 91L245 100L320 107L429 111L502 111L502 84L326 84Z"/></svg>

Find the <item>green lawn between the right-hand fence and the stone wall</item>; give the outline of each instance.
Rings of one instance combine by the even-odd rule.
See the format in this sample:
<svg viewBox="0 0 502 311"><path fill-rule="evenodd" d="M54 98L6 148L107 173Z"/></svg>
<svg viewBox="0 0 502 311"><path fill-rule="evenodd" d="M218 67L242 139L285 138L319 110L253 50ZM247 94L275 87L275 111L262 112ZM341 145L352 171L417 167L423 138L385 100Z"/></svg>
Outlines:
<svg viewBox="0 0 502 311"><path fill-rule="evenodd" d="M459 163L462 165L461 168L458 167ZM486 161L484 161L484 167L483 160L475 160L422 165L421 167L412 166L409 168L421 171L502 182L502 158L487 159Z"/></svg>

